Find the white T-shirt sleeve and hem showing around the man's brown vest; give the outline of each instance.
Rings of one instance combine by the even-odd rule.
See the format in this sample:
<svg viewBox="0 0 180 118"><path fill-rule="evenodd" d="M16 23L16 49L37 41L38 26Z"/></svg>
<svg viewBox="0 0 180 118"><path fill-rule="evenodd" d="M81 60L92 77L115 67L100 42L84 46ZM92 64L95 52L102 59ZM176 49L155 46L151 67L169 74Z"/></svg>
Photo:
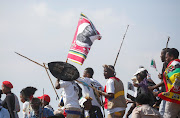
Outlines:
<svg viewBox="0 0 180 118"><path fill-rule="evenodd" d="M114 81L112 79L108 79L106 82L106 92L107 93L114 93L115 92L115 88L114 88ZM125 107L116 107L113 109L107 109L107 113L111 114L114 112L119 112L119 111L123 111L125 110Z"/></svg>

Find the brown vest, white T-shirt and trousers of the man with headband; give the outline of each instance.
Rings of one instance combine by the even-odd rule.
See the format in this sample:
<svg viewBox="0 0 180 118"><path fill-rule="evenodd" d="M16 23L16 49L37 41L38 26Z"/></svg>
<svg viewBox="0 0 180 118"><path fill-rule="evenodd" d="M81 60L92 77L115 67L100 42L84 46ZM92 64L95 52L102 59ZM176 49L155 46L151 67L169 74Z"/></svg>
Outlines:
<svg viewBox="0 0 180 118"><path fill-rule="evenodd" d="M110 77L106 82L104 92L114 94L114 98L105 97L104 108L107 109L108 118L113 118L114 116L123 117L127 104L122 81L116 77Z"/></svg>

